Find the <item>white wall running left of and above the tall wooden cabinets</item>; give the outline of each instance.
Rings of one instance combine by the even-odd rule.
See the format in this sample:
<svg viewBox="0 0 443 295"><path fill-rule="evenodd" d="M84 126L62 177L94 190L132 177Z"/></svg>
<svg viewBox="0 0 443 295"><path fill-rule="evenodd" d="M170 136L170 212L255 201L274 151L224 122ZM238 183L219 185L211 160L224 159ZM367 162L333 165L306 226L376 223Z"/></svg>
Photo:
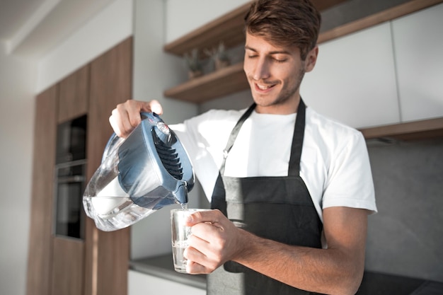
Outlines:
<svg viewBox="0 0 443 295"><path fill-rule="evenodd" d="M130 35L132 1L115 0L40 60L0 44L0 294L25 294L36 94Z"/></svg>

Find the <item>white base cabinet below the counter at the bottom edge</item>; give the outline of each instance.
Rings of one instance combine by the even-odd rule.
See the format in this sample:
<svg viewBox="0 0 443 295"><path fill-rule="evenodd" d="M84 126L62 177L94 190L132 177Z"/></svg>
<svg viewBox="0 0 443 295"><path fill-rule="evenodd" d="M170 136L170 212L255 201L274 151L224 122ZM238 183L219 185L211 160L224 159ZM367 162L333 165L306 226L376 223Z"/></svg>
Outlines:
<svg viewBox="0 0 443 295"><path fill-rule="evenodd" d="M168 281L149 274L130 270L128 272L128 295L206 295L206 290L178 282Z"/></svg>

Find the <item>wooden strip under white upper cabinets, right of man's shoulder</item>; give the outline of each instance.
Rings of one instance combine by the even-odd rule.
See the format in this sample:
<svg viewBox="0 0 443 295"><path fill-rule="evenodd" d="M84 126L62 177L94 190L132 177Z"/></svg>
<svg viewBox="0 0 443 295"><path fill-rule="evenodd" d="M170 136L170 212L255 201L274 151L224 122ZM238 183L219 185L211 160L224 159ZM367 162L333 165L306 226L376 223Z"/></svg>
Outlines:
<svg viewBox="0 0 443 295"><path fill-rule="evenodd" d="M443 117L360 129L365 139L418 140L443 137Z"/></svg>

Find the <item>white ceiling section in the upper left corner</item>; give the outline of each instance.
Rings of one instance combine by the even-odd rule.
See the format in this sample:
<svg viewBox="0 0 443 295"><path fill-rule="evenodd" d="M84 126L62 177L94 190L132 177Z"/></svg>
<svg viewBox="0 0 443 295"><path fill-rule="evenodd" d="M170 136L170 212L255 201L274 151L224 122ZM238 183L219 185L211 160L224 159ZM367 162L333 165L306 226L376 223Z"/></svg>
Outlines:
<svg viewBox="0 0 443 295"><path fill-rule="evenodd" d="M7 54L38 59L115 0L0 0Z"/></svg>

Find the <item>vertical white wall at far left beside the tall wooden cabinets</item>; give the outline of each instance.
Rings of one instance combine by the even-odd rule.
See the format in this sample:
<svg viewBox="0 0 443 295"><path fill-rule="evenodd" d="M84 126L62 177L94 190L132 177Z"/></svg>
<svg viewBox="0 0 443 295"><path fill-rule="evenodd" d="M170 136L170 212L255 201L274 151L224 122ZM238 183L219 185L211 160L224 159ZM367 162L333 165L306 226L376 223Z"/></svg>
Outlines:
<svg viewBox="0 0 443 295"><path fill-rule="evenodd" d="M35 73L0 43L0 294L25 294Z"/></svg>

